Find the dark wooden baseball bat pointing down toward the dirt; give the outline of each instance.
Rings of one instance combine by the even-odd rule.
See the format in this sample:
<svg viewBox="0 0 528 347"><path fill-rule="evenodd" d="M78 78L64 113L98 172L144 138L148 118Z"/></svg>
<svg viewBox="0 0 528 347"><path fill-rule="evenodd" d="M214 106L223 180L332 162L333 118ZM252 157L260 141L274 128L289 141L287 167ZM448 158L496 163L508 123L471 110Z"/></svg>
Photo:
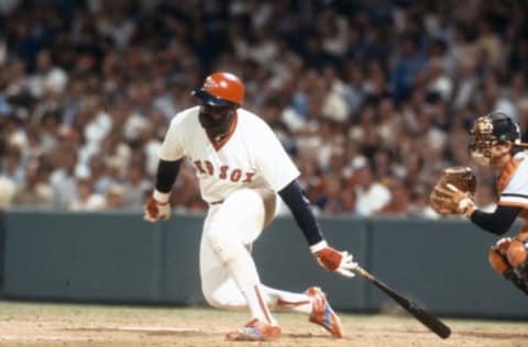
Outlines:
<svg viewBox="0 0 528 347"><path fill-rule="evenodd" d="M433 316L431 313L425 311L424 309L419 307L410 300L404 298L402 294L396 292L394 289L392 289L384 282L380 281L377 278L375 278L373 275L367 272L359 265L354 269L352 269L352 271L381 289L385 294L391 296L402 307L404 307L408 313L410 313L415 318L417 318L421 324L427 326L431 332L433 332L441 338L448 338L449 335L451 335L450 327L443 324L439 318Z"/></svg>

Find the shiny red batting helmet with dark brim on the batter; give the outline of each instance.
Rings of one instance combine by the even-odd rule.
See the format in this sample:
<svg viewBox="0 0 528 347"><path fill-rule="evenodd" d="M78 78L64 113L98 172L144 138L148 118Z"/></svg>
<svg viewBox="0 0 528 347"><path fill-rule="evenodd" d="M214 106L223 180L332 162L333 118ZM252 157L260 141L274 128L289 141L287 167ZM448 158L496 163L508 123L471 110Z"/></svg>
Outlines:
<svg viewBox="0 0 528 347"><path fill-rule="evenodd" d="M244 101L244 85L233 74L215 72L191 94L211 107L239 107Z"/></svg>

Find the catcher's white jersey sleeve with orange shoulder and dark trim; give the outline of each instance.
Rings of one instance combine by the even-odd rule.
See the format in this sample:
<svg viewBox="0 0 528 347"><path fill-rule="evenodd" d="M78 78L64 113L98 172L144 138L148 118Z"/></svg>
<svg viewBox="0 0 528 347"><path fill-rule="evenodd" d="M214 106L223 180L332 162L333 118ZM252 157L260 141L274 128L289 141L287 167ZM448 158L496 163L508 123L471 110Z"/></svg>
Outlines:
<svg viewBox="0 0 528 347"><path fill-rule="evenodd" d="M498 205L521 208L521 217L528 216L528 153L517 153L506 164L497 180L501 193Z"/></svg>

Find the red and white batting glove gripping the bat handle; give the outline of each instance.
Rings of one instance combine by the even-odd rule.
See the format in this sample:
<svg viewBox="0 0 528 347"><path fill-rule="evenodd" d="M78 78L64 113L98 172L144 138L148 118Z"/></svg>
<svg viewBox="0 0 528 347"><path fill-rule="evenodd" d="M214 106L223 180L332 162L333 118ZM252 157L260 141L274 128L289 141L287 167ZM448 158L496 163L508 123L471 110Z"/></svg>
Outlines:
<svg viewBox="0 0 528 347"><path fill-rule="evenodd" d="M352 261L353 257L346 250L339 251L328 246L326 240L311 246L310 250L324 269L349 278L355 276L352 270L358 267L358 262Z"/></svg>

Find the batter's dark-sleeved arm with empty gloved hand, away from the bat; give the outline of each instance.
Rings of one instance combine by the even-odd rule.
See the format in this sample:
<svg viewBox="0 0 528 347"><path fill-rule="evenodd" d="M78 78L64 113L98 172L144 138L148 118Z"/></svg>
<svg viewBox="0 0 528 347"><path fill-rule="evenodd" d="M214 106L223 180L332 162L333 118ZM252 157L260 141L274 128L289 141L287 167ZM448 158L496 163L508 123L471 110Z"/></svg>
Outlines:
<svg viewBox="0 0 528 347"><path fill-rule="evenodd" d="M145 205L145 221L168 220L170 215L170 189L178 176L180 164L182 159L172 161L160 159L156 186Z"/></svg>

